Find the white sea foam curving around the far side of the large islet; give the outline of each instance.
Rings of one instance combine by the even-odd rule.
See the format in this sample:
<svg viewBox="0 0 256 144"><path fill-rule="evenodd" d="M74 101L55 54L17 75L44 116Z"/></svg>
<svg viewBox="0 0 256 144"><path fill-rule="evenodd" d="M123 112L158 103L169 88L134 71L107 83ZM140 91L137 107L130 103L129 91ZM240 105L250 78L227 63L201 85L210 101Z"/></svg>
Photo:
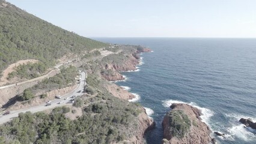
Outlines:
<svg viewBox="0 0 256 144"><path fill-rule="evenodd" d="M213 116L213 111L210 110L210 109L206 109L204 107L199 107L197 106L197 104L195 103L185 103L184 101L178 101L178 100L165 100L165 101L162 101L163 102L163 106L165 107L169 107L171 106L172 103L184 103L184 104L189 104L190 106L194 106L194 107L197 107L197 109L200 109L202 114L200 116L200 118L202 119L203 122L205 122L207 125L209 125L209 122L210 122L210 118Z"/></svg>

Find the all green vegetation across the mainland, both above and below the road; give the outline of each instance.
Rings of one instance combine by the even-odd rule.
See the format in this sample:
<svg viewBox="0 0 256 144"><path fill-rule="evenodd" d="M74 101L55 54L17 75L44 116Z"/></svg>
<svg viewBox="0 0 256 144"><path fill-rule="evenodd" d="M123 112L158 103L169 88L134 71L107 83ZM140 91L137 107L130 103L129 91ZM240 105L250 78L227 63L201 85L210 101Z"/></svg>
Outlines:
<svg viewBox="0 0 256 144"><path fill-rule="evenodd" d="M0 0L0 4L2 2ZM37 77L67 53L80 54L84 50L108 46L53 26L14 5L0 8L0 72L20 59L40 61L38 64L19 66L9 78ZM112 50L116 52L118 49ZM109 82L100 77L102 65L106 62L121 64L127 60L127 54L109 55L102 61L91 59L99 55L100 52L95 50L82 59L91 60L80 67L89 74L85 91L87 94L75 98L75 108L56 107L50 114L20 113L19 117L0 125L0 143L119 143L134 137L139 124L136 117L142 112L141 107L114 97L106 89ZM77 74L76 67L61 68L61 73L26 89L20 98L29 101L38 92L40 98L46 98L47 91L75 85ZM77 113L74 109L82 110L82 115L75 115L76 119L71 120L69 115Z"/></svg>

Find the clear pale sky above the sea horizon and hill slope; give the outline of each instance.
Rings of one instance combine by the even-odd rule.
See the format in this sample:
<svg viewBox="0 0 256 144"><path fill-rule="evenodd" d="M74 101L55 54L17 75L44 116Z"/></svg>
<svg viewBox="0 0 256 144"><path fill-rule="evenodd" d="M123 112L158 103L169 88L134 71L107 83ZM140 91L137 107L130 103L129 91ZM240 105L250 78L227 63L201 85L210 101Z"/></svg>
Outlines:
<svg viewBox="0 0 256 144"><path fill-rule="evenodd" d="M84 37L253 37L256 0L7 0Z"/></svg>

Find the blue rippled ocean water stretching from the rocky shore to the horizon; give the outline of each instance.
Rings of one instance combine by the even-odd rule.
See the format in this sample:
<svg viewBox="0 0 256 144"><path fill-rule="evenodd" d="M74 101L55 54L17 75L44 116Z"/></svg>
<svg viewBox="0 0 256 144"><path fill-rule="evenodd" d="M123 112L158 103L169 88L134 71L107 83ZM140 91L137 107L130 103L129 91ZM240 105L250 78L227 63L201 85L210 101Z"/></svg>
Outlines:
<svg viewBox="0 0 256 144"><path fill-rule="evenodd" d="M147 143L161 143L162 120L171 103L200 108L218 143L256 143L256 131L240 118L256 121L256 39L239 38L96 38L118 44L140 44L138 71L117 82L137 95L138 103L156 121ZM135 101L135 100L133 100Z"/></svg>

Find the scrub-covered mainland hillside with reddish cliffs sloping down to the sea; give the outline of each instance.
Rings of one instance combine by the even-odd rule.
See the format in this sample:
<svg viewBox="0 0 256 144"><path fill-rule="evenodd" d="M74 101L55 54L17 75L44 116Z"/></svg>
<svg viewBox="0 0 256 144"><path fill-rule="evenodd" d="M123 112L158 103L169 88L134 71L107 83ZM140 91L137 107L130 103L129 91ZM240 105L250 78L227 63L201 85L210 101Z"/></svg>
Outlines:
<svg viewBox="0 0 256 144"><path fill-rule="evenodd" d="M0 72L20 60L33 61L13 64L16 68L8 74L8 82L17 77L24 80L47 76L0 90L0 119L6 112L8 116L17 113L17 117L1 123L0 143L144 143L144 133L154 127L153 120L138 103L129 103L133 94L106 79L118 80L112 74L121 76L118 71L135 70L138 54L145 51L143 47L109 47L2 0L0 31ZM55 74L44 74L57 59L69 55L76 56L75 60L71 61L72 57L62 61L55 67ZM79 70L88 77L78 91L82 75ZM56 95L62 96L62 103L56 103ZM53 107L47 108L48 103ZM41 111L34 113L33 107Z"/></svg>

